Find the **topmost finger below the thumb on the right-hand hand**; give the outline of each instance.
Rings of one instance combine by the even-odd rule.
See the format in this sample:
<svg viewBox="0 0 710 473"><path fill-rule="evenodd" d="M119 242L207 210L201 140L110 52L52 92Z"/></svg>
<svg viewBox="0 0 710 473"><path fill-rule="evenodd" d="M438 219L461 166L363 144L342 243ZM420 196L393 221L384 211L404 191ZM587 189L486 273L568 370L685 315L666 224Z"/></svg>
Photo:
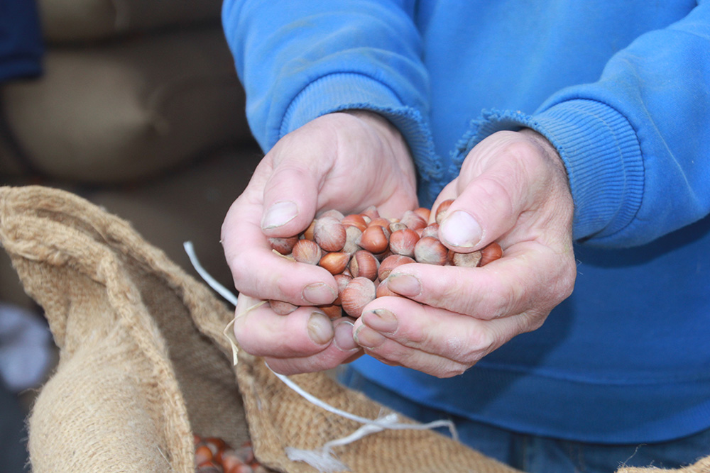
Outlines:
<svg viewBox="0 0 710 473"><path fill-rule="evenodd" d="M484 267L403 265L391 272L386 284L420 304L475 318L523 312L545 316L572 292L577 268L571 251L561 255L526 241L507 247L500 260Z"/></svg>

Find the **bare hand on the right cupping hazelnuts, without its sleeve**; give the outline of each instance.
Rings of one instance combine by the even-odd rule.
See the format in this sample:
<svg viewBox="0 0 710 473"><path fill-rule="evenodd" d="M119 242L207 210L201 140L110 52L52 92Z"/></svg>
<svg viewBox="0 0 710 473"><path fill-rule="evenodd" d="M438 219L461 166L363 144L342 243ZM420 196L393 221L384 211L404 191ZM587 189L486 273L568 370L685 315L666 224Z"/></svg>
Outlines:
<svg viewBox="0 0 710 473"><path fill-rule="evenodd" d="M437 377L461 374L540 327L577 273L567 173L542 135L486 138L433 208L445 199L455 201L439 228L442 243L471 252L497 240L503 257L479 268L404 265L388 287L406 299L376 299L355 323L369 355Z"/></svg>

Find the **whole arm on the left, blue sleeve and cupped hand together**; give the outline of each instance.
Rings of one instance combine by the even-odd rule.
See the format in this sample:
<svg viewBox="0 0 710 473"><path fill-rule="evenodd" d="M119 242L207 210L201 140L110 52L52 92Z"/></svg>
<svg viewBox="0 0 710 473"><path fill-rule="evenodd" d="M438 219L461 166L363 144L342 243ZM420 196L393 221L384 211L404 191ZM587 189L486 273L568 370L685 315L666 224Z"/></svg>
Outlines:
<svg viewBox="0 0 710 473"><path fill-rule="evenodd" d="M415 207L413 162L399 130L411 135L410 149L427 145L417 111L426 76L410 19L395 6L346 3L353 11L305 1L224 7L248 117L268 150L222 228L240 291L234 330L246 351L284 373L334 367L360 350L351 323L330 323L316 307L335 298L333 277L273 255L266 238L296 235L329 208L376 205L398 216ZM349 108L379 115L334 113ZM263 299L303 307L288 317L268 306L247 311Z"/></svg>

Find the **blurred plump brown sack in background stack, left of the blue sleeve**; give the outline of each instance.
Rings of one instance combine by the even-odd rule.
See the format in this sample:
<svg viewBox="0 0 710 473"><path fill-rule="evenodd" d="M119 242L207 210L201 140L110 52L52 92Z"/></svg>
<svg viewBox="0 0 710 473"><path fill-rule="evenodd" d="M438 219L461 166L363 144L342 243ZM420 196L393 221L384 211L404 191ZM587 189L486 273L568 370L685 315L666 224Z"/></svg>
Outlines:
<svg viewBox="0 0 710 473"><path fill-rule="evenodd" d="M250 136L220 28L51 49L0 102L23 160L70 182L143 179Z"/></svg>

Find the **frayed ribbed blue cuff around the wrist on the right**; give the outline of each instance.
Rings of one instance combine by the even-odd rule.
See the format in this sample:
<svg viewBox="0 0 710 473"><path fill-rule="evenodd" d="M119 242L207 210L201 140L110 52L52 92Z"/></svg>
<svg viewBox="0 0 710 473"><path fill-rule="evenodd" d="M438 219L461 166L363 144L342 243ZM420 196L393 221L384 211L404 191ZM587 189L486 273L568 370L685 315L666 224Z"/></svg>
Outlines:
<svg viewBox="0 0 710 473"><path fill-rule="evenodd" d="M643 196L643 160L635 131L614 108L598 101L560 102L533 116L520 111L486 111L457 146L454 166L486 136L532 128L555 146L574 199L574 239L598 244L623 230Z"/></svg>

